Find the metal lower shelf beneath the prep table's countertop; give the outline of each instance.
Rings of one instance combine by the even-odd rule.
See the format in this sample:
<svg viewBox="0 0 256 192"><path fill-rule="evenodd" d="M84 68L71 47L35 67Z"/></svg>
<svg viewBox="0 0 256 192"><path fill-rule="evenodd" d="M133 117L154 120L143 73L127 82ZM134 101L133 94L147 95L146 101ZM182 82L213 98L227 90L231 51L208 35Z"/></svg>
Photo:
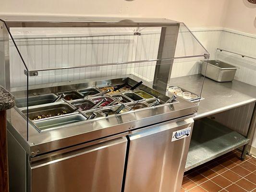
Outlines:
<svg viewBox="0 0 256 192"><path fill-rule="evenodd" d="M216 121L195 120L185 171L248 143L249 139Z"/></svg>

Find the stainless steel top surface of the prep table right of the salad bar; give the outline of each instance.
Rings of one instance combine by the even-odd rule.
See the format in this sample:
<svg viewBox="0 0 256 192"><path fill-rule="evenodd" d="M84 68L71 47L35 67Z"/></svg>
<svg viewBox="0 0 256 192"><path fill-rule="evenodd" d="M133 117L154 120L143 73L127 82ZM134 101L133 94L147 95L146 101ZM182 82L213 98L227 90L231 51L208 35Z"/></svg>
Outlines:
<svg viewBox="0 0 256 192"><path fill-rule="evenodd" d="M200 93L203 76L201 74L177 77L171 79L171 85L182 87L194 93ZM194 119L200 119L212 114L237 108L256 102L256 86L233 80L219 83L205 78L202 99L198 113Z"/></svg>

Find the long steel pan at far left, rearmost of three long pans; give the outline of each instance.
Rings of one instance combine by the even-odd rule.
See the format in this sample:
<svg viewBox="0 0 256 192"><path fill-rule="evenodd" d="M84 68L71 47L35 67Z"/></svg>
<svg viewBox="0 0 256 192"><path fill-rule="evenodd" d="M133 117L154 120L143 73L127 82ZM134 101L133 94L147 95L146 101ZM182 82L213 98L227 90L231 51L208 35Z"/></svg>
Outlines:
<svg viewBox="0 0 256 192"><path fill-rule="evenodd" d="M17 98L16 107L17 108L24 108L30 107L35 105L43 105L47 103L51 103L57 96L55 94L44 94L39 96L29 96L28 97L28 105L27 105L27 97Z"/></svg>

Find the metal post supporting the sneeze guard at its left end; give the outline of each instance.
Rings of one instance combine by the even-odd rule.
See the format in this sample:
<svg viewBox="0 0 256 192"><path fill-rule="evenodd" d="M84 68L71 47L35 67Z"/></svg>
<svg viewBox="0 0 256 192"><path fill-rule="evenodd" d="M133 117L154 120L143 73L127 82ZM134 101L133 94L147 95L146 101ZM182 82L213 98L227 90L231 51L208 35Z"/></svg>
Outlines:
<svg viewBox="0 0 256 192"><path fill-rule="evenodd" d="M0 84L10 91L9 35L3 22L0 21Z"/></svg>

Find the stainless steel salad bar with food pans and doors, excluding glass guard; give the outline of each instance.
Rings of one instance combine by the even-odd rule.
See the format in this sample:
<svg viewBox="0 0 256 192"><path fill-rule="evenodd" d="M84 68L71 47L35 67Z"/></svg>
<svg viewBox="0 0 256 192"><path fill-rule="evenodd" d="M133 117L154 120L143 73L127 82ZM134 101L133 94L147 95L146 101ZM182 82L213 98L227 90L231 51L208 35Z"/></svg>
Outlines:
<svg viewBox="0 0 256 192"><path fill-rule="evenodd" d="M122 84L130 88L126 85L125 89L117 90ZM172 174L167 171L163 175L164 186L173 187L175 182L181 185L185 166L183 154L188 152L190 136L172 141L172 135L174 132L182 134L183 130L192 132L197 104L171 92L163 95L144 84L131 90L136 84L137 81L127 77L74 84L72 90L65 91L60 86L29 90L28 108L22 107L23 97L16 99L17 106L21 108L15 107L12 111L15 117L8 126L10 141L13 142L14 135L18 140L22 139L16 127L23 124L28 116L30 141L24 148L29 154L27 163L31 180L27 181L31 182L30 191L50 192L51 188L55 188L56 192L66 189L81 191L89 185L96 188L99 183L106 182L109 174L111 179L107 182L111 192L112 185L116 185L114 191L121 191L122 185L125 192L133 192L138 186L149 190L152 188L149 180L137 183L148 177L140 169L153 166L153 162L145 164L148 157L159 159L164 156L169 156L166 161L172 165ZM61 92L51 91L56 89ZM24 118L21 119L18 114ZM166 147L168 150L165 150ZM174 151L176 157L173 159ZM101 156L98 164L94 160L97 159L96 154ZM165 163L159 162L153 167L160 170ZM82 186L76 185L78 181L75 176L63 185L56 185L56 182L61 183L70 175L78 174L86 178L87 174L93 175L96 170L100 176L96 178L97 185L89 180ZM158 170L157 178L160 178ZM174 175L180 179L176 180ZM150 177L153 180L156 175ZM19 185L19 182L16 184Z"/></svg>

